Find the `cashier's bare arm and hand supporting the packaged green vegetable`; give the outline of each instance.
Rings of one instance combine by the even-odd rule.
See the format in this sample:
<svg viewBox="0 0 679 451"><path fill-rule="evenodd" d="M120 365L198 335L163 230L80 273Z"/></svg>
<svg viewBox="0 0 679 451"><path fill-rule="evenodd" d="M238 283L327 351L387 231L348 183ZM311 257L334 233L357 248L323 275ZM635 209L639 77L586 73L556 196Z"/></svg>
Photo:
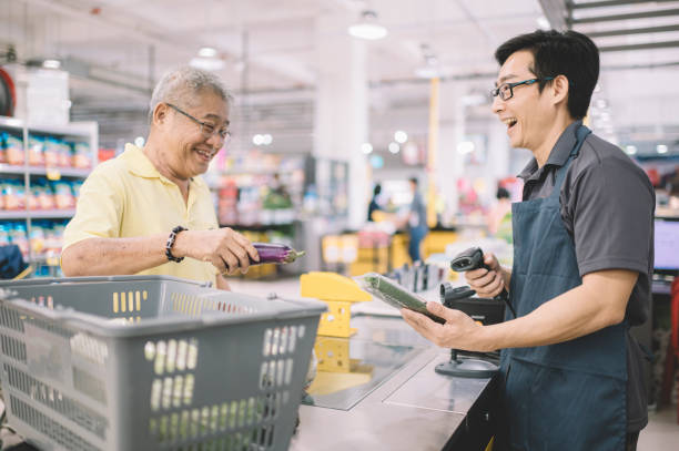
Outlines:
<svg viewBox="0 0 679 451"><path fill-rule="evenodd" d="M445 348L491 351L553 345L592 334L625 318L638 273L600 270L582 277L582 285L543 304L529 315L491 326L480 326L459 310L438 303L427 309L445 325L402 309L405 320L425 338Z"/></svg>

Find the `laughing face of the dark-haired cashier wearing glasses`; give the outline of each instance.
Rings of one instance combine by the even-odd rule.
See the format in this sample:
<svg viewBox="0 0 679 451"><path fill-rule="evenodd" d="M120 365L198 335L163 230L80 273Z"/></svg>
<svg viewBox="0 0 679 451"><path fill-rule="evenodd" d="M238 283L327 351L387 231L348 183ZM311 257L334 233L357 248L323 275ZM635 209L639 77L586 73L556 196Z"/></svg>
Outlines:
<svg viewBox="0 0 679 451"><path fill-rule="evenodd" d="M535 59L528 50L513 53L503 64L495 82L496 88L504 83L518 83L537 79L530 68ZM538 89L538 83L514 86L514 95L501 100L499 95L493 99L493 112L507 126L507 135L511 147L537 150L544 140L545 130L554 122L554 109L548 96Z"/></svg>

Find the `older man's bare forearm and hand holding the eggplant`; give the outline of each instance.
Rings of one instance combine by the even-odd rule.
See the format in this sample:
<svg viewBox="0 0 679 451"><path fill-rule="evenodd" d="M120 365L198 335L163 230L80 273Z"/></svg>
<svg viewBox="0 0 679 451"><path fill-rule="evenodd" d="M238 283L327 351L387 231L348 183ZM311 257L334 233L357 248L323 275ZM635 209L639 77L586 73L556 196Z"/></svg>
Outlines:
<svg viewBox="0 0 679 451"><path fill-rule="evenodd" d="M136 274L168 263L169 234L170 230L149 237L83 239L63 250L61 268L69 277ZM172 255L210 262L221 274L239 269L245 273L250 258L260 259L252 243L229 227L180 232Z"/></svg>

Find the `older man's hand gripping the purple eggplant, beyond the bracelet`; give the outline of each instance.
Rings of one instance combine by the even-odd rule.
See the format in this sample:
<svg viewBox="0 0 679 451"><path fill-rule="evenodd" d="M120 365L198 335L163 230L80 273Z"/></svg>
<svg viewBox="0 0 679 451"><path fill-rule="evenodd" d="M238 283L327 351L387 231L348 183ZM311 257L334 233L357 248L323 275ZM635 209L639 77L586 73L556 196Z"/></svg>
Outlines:
<svg viewBox="0 0 679 451"><path fill-rule="evenodd" d="M220 274L245 274L250 258L259 262L260 255L252 243L229 227L212 230L183 230L176 235L172 254L210 262Z"/></svg>

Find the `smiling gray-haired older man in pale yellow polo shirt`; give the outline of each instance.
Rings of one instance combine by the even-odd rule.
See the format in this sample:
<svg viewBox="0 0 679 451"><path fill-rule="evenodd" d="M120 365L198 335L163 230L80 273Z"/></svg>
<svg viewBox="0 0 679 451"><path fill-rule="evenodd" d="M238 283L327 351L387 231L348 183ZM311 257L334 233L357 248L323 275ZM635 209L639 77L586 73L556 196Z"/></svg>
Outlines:
<svg viewBox="0 0 679 451"><path fill-rule="evenodd" d="M259 260L243 235L219 228L200 177L230 136L231 100L215 75L197 69L160 80L144 147L128 144L81 188L64 233L64 275L169 275L229 289L222 275Z"/></svg>

